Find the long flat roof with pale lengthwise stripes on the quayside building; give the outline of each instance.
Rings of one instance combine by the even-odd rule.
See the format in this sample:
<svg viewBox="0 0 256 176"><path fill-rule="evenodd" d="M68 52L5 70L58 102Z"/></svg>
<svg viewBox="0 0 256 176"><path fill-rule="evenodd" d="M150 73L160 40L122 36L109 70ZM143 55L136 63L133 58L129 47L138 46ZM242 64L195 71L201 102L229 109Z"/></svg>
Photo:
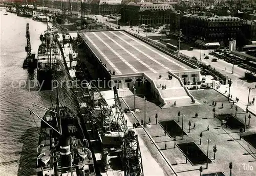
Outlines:
<svg viewBox="0 0 256 176"><path fill-rule="evenodd" d="M130 73L158 74L167 70L190 69L173 57L133 37L125 31L79 33L93 53L116 75Z"/></svg>

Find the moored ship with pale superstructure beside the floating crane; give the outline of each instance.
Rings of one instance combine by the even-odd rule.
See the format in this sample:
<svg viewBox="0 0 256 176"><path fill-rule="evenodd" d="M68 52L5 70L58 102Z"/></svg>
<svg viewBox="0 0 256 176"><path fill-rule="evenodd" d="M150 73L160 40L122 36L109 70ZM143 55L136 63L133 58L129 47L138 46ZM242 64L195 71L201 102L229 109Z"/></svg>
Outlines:
<svg viewBox="0 0 256 176"><path fill-rule="evenodd" d="M54 29L47 27L45 36L40 36L42 43L37 54L37 81L41 90L52 90L52 81L63 73L61 54L53 38L57 34Z"/></svg>

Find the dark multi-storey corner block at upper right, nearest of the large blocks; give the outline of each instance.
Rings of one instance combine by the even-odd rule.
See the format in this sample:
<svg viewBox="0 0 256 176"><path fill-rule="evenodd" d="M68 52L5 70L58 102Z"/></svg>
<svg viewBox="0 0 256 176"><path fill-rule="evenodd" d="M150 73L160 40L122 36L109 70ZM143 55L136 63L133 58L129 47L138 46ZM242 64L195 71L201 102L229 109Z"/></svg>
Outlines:
<svg viewBox="0 0 256 176"><path fill-rule="evenodd" d="M181 17L180 26L182 33L192 40L228 45L231 39L237 39L241 33L242 20L233 16L187 14Z"/></svg>

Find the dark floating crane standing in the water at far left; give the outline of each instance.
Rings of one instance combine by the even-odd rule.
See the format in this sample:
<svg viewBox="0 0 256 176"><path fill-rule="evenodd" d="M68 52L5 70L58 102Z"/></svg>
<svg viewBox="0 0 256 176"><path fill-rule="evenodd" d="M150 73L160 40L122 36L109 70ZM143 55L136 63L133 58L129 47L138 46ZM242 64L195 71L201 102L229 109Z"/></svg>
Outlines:
<svg viewBox="0 0 256 176"><path fill-rule="evenodd" d="M27 23L27 26L26 26L26 38L27 38L27 46L25 47L25 51L27 52L27 57L23 62L23 68L36 68L37 59L35 59L35 54L31 53L29 23Z"/></svg>

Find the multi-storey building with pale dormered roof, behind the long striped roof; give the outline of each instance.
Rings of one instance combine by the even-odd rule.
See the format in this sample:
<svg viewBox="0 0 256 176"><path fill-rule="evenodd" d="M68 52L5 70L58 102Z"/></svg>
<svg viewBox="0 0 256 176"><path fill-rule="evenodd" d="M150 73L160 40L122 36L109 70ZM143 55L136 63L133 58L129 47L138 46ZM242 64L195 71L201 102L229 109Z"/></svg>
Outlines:
<svg viewBox="0 0 256 176"><path fill-rule="evenodd" d="M131 25L169 23L170 12L174 11L169 4L129 3L122 7L121 21Z"/></svg>

